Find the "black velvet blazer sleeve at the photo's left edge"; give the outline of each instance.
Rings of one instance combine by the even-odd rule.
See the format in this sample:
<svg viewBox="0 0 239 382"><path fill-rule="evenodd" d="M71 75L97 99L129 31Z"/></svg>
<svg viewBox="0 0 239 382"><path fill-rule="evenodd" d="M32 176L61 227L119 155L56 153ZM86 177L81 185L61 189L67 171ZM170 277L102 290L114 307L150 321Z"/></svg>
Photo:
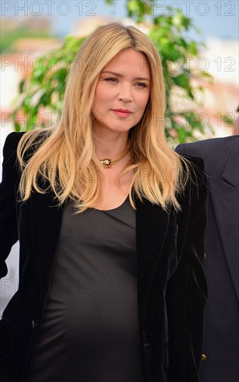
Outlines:
<svg viewBox="0 0 239 382"><path fill-rule="evenodd" d="M12 163L16 158L14 146L17 133L10 133L3 146L2 180L0 183L0 279L6 276L6 258L12 245L18 240L17 210L15 203L15 170ZM17 146L16 146L17 147Z"/></svg>

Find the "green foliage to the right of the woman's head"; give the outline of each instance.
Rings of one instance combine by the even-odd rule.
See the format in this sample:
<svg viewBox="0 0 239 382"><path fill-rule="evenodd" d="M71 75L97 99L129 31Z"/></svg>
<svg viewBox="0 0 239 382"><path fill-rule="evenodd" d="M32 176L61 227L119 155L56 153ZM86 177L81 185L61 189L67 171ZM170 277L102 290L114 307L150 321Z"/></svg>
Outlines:
<svg viewBox="0 0 239 382"><path fill-rule="evenodd" d="M195 132L204 135L204 122L191 110L184 113L174 113L172 105L172 90L179 92L179 99L195 100L195 92L203 92L198 85L192 87L191 80L200 76L206 81L212 81L210 74L193 71L191 60L197 57L200 46L190 38L185 37L185 32L194 28L190 18L182 13L177 16L159 15L154 18L154 26L149 37L159 51L163 67L163 77L166 84L166 135L176 142L195 140ZM183 91L184 96L181 95ZM208 126L211 129L211 126Z"/></svg>

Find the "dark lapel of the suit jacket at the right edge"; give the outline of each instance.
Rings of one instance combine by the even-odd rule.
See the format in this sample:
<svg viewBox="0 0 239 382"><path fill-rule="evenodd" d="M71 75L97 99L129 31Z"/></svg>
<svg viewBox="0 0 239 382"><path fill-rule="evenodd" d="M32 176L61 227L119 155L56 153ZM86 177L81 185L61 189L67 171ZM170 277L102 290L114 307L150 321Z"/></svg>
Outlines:
<svg viewBox="0 0 239 382"><path fill-rule="evenodd" d="M231 279L239 299L239 257L238 257L238 232L239 232L239 162L238 149L233 147L227 165L218 171L217 177L209 177L208 183L213 200L215 217L222 238L224 254L229 266ZM233 201L233 202L232 202Z"/></svg>

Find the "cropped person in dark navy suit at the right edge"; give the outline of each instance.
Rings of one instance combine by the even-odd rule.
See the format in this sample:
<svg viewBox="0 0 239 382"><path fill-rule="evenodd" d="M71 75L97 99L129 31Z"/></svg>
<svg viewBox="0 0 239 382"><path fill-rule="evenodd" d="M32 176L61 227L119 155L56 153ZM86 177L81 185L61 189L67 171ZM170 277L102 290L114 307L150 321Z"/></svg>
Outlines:
<svg viewBox="0 0 239 382"><path fill-rule="evenodd" d="M200 380L238 382L239 135L179 144L176 150L203 158L209 187L204 261L209 298Z"/></svg>

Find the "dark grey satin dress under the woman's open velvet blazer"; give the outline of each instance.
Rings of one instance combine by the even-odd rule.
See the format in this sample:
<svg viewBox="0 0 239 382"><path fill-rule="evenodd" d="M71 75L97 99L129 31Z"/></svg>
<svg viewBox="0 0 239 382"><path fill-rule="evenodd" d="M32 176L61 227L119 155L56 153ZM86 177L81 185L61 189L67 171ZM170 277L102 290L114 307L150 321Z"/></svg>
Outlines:
<svg viewBox="0 0 239 382"><path fill-rule="evenodd" d="M142 382L136 213L67 201L28 382Z"/></svg>

